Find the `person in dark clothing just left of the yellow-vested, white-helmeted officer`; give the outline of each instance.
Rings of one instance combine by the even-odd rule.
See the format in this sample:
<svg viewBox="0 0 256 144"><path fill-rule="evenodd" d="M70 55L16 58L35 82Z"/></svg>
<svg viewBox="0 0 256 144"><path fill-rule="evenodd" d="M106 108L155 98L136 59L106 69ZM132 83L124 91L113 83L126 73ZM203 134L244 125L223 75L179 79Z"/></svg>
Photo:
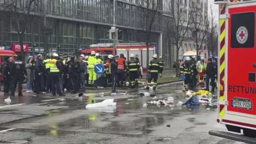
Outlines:
<svg viewBox="0 0 256 144"><path fill-rule="evenodd" d="M38 54L35 61L35 93L40 94L42 90L41 75L44 74L43 56Z"/></svg>

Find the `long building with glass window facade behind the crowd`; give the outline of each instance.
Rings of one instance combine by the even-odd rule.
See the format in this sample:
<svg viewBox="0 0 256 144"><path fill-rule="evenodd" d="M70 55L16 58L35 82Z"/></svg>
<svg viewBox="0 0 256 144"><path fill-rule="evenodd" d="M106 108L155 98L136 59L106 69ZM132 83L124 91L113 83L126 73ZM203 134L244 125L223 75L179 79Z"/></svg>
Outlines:
<svg viewBox="0 0 256 144"><path fill-rule="evenodd" d="M26 0L21 0L26 3ZM47 26L53 30L49 36L49 52L72 54L91 44L111 43L108 31L113 26L113 0L46 0ZM6 3L0 0L0 6ZM140 4L140 6L138 5ZM122 30L119 42L145 42L143 38L143 1L116 1L116 27ZM157 4L162 4L157 0ZM142 6L141 6L142 5ZM151 43L161 47L162 13L159 6ZM12 17L1 14L0 45L11 47L19 43L17 22ZM44 52L43 17L36 17L27 24L24 43L29 45L29 53ZM158 53L158 52L157 52ZM32 53L31 53L32 54Z"/></svg>

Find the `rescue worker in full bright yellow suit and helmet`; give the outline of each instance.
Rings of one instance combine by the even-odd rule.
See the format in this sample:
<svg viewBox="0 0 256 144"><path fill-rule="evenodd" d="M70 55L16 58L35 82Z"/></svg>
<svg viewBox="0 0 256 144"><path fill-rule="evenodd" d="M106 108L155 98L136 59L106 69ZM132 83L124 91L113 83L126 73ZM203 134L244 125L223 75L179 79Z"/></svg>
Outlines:
<svg viewBox="0 0 256 144"><path fill-rule="evenodd" d="M89 84L90 86L93 86L97 76L97 74L94 72L94 66L96 63L95 51L91 52L91 55L89 56L87 63L88 63L88 73L89 73Z"/></svg>

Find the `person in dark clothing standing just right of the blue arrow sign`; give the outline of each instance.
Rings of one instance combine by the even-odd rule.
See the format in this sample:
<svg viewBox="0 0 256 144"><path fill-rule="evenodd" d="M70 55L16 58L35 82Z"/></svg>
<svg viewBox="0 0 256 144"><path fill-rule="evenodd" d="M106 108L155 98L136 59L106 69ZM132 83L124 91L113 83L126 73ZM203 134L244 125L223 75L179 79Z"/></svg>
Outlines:
<svg viewBox="0 0 256 144"><path fill-rule="evenodd" d="M116 95L116 84L117 84L117 59L116 57L112 58L109 69L111 71L111 79L112 79L112 88L111 95Z"/></svg>

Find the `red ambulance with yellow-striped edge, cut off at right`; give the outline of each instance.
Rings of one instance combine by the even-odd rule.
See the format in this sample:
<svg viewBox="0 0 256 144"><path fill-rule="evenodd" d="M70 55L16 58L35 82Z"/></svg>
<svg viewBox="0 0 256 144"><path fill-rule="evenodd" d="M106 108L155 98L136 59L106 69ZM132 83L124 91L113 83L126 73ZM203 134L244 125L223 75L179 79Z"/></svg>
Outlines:
<svg viewBox="0 0 256 144"><path fill-rule="evenodd" d="M256 143L255 0L219 4L218 118L230 132L209 134Z"/></svg>

